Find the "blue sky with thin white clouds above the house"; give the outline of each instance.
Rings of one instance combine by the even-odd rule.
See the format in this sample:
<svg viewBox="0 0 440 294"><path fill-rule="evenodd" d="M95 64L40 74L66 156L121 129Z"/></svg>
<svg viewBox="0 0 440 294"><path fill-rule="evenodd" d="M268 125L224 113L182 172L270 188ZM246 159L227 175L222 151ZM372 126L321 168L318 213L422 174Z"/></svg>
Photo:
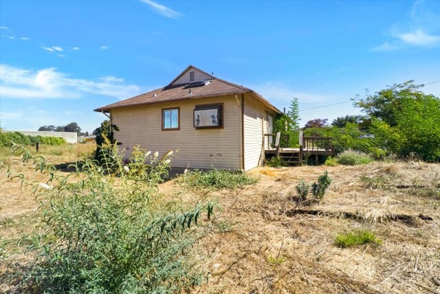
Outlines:
<svg viewBox="0 0 440 294"><path fill-rule="evenodd" d="M189 64L280 109L298 98L302 124L358 114L340 102L410 79L440 95L440 1L0 0L0 34L5 129L91 132L94 108Z"/></svg>

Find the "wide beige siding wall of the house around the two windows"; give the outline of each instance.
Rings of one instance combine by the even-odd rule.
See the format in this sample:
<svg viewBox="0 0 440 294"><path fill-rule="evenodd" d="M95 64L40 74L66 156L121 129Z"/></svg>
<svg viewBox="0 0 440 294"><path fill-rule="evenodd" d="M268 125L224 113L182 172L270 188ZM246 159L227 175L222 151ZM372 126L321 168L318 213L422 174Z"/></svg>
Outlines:
<svg viewBox="0 0 440 294"><path fill-rule="evenodd" d="M189 76L188 76L189 78ZM162 156L178 150L173 167L241 170L241 100L234 95L111 109L121 148L141 145ZM195 129L195 105L223 103L223 128ZM162 109L180 107L180 129L162 131Z"/></svg>

